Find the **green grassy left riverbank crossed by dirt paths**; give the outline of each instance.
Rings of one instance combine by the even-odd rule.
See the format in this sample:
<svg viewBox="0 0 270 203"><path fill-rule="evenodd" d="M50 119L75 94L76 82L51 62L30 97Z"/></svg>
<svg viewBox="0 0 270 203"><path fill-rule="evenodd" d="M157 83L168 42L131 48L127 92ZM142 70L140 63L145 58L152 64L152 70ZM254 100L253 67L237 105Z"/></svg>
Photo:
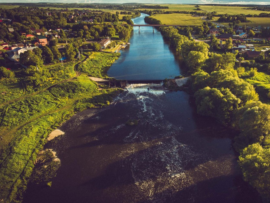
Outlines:
<svg viewBox="0 0 270 203"><path fill-rule="evenodd" d="M95 76L105 77L104 70L117 59L115 54L89 55L86 61L91 66L83 70L95 70ZM23 91L19 83L8 85L0 80L1 87L11 92L0 96L5 102L0 106L0 199L5 202L21 201L33 162L52 130L78 111L107 106L119 92L117 88L99 90L88 75L76 74L74 67L80 64L83 62L46 66L54 77L35 91Z"/></svg>

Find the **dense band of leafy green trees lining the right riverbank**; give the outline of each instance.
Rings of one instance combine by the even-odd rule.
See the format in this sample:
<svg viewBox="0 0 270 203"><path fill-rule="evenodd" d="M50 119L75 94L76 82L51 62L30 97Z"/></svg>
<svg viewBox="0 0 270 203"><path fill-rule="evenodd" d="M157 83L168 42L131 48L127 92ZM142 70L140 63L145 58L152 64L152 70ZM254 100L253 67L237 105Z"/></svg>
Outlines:
<svg viewBox="0 0 270 203"><path fill-rule="evenodd" d="M253 85L239 78L242 68L235 64L235 54L210 53L208 44L190 40L176 28L160 31L186 63L198 114L239 131L234 148L243 178L269 201L270 105L260 102Z"/></svg>

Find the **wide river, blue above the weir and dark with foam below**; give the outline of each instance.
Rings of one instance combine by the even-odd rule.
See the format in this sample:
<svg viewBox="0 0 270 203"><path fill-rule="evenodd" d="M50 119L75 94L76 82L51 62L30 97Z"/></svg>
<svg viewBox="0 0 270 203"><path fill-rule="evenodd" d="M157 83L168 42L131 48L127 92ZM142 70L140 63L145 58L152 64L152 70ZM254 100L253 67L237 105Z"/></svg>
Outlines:
<svg viewBox="0 0 270 203"><path fill-rule="evenodd" d="M144 17L134 19L144 24ZM177 57L152 27L135 27L108 71L126 80L181 73ZM150 87L150 90L147 90ZM137 119L137 126L126 125ZM61 166L52 186L29 184L24 203L253 203L231 148L235 132L199 116L184 91L130 84L109 107L73 116L47 147Z"/></svg>

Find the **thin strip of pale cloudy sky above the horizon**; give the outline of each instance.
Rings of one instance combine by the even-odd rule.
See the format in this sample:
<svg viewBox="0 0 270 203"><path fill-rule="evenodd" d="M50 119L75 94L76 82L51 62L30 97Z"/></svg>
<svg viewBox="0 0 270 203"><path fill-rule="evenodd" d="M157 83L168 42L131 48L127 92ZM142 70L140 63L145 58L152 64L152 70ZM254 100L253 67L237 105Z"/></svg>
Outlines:
<svg viewBox="0 0 270 203"><path fill-rule="evenodd" d="M11 2L63 2L63 3L151 3L151 4L259 4L270 5L270 0L0 0L1 3Z"/></svg>

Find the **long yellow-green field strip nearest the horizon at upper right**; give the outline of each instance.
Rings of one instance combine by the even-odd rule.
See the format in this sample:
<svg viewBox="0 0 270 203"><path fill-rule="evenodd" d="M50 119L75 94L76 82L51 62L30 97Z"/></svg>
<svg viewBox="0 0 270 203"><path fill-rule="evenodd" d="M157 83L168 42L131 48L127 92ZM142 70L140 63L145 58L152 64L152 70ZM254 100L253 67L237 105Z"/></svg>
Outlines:
<svg viewBox="0 0 270 203"><path fill-rule="evenodd" d="M148 4L152 5L152 4ZM162 6L168 6L169 9L161 9L162 11L197 11L194 5L185 5L185 4L158 4ZM266 11L255 11L255 10L246 10L243 8L248 7L240 7L240 6L208 6L208 5L200 5L202 9L201 12L212 12L217 11L218 14L260 14ZM147 9L147 10L156 10L156 9ZM200 11L198 11L200 12ZM270 12L266 12L270 13Z"/></svg>

